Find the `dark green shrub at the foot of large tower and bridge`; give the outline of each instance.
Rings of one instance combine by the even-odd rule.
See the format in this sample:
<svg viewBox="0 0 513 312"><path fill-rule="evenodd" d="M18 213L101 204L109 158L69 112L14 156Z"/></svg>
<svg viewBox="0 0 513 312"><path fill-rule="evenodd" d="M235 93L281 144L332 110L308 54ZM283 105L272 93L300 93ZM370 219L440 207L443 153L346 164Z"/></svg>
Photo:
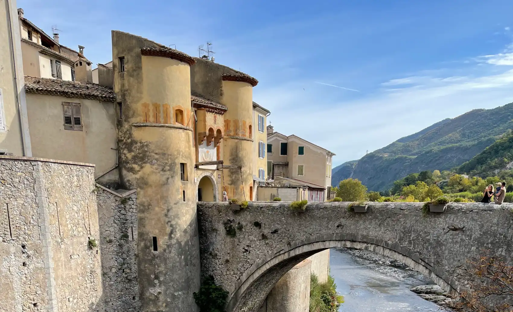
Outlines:
<svg viewBox="0 0 513 312"><path fill-rule="evenodd" d="M192 295L201 312L224 312L228 294L223 287L215 284L212 276L207 276L201 282L200 292Z"/></svg>

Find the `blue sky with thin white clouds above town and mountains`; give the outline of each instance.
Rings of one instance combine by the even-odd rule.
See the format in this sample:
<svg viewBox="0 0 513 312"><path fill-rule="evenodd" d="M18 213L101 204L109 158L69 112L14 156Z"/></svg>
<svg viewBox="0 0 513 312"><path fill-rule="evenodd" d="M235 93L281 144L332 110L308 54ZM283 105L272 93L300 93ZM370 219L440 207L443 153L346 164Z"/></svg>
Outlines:
<svg viewBox="0 0 513 312"><path fill-rule="evenodd" d="M144 4L144 7L143 7ZM260 82L275 131L334 152L334 165L447 117L513 102L513 2L17 0L25 17L94 64L110 30L215 61ZM349 90L348 90L349 89Z"/></svg>

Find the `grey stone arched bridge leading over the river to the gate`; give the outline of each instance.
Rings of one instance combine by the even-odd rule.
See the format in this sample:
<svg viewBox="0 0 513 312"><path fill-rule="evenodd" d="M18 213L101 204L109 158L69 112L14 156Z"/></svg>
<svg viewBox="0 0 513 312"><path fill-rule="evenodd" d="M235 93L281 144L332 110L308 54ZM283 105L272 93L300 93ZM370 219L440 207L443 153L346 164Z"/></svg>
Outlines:
<svg viewBox="0 0 513 312"><path fill-rule="evenodd" d="M457 295L472 280L467 259L483 249L511 262L513 205L448 204L444 213L422 214L422 203L369 203L366 213L349 203L199 202L204 275L229 292L227 311L256 312L273 285L295 264L338 246L390 256ZM225 225L235 229L227 235Z"/></svg>

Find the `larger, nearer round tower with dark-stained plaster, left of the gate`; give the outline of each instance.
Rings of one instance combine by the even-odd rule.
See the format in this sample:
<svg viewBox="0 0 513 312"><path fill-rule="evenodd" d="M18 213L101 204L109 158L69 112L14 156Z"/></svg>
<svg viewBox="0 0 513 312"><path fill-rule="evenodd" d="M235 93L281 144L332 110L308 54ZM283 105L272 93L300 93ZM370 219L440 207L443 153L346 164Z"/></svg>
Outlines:
<svg viewBox="0 0 513 312"><path fill-rule="evenodd" d="M113 31L120 172L137 190L140 310L196 311L200 287L190 68L194 59Z"/></svg>

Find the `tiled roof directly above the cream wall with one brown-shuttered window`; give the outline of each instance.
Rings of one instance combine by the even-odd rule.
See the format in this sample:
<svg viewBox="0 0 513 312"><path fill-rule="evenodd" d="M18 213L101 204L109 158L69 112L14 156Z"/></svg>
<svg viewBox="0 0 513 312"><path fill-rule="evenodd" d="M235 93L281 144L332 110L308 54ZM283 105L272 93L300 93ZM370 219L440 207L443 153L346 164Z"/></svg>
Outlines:
<svg viewBox="0 0 513 312"><path fill-rule="evenodd" d="M27 93L58 95L70 98L86 98L109 102L116 100L112 88L60 79L25 76L25 90Z"/></svg>

